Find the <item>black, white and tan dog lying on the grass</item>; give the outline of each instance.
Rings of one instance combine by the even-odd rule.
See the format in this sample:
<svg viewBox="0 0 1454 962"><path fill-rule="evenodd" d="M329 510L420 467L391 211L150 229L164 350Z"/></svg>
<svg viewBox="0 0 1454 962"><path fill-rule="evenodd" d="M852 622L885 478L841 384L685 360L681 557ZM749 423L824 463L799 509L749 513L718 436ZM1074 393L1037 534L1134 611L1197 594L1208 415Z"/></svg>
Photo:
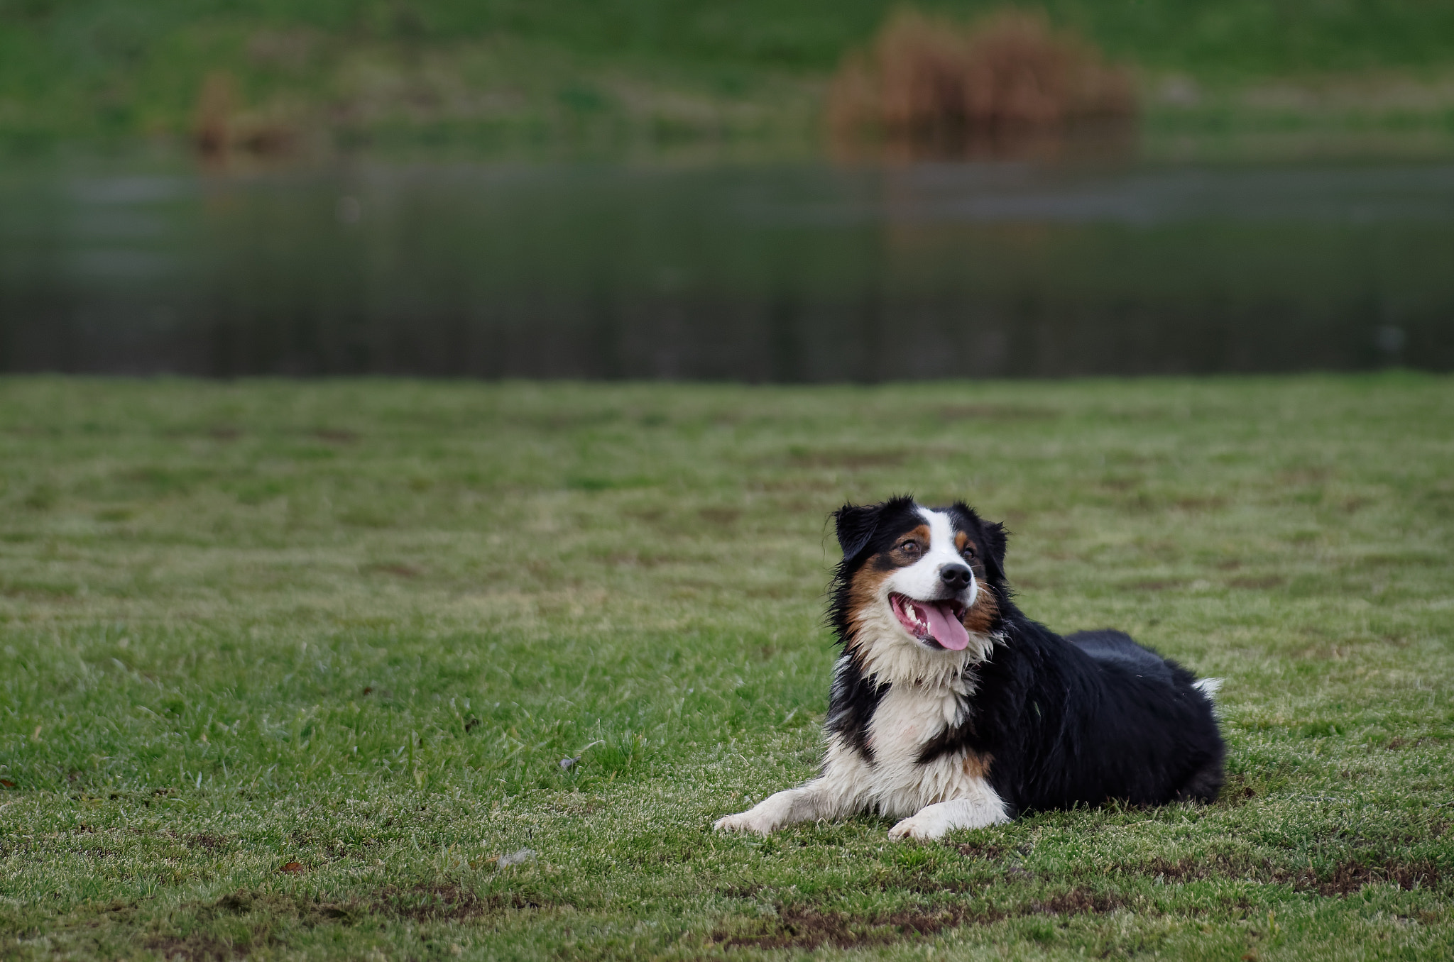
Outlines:
<svg viewBox="0 0 1454 962"><path fill-rule="evenodd" d="M1025 618L1003 525L963 501L894 497L833 517L843 559L827 621L842 654L822 773L718 831L878 812L900 820L890 838L938 838L1037 809L1217 798L1220 679L1118 631L1061 638Z"/></svg>

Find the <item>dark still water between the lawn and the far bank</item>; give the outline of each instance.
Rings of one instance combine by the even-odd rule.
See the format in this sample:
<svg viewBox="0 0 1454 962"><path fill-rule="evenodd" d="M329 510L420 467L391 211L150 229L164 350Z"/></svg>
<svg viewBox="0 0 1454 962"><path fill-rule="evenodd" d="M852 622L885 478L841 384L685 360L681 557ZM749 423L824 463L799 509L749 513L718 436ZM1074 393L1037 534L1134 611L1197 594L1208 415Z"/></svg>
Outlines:
<svg viewBox="0 0 1454 962"><path fill-rule="evenodd" d="M1454 369L1454 164L0 174L0 369Z"/></svg>

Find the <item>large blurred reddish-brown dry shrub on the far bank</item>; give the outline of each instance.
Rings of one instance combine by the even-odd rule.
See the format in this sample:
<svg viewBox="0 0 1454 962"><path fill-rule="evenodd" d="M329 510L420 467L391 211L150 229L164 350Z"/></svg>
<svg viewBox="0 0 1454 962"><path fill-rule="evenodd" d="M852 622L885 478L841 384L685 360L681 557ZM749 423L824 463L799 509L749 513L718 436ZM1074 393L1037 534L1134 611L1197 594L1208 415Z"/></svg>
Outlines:
<svg viewBox="0 0 1454 962"><path fill-rule="evenodd" d="M1053 129L1134 112L1127 71L1040 16L1002 12L965 26L900 10L868 51L845 57L827 121L838 138L901 140Z"/></svg>

